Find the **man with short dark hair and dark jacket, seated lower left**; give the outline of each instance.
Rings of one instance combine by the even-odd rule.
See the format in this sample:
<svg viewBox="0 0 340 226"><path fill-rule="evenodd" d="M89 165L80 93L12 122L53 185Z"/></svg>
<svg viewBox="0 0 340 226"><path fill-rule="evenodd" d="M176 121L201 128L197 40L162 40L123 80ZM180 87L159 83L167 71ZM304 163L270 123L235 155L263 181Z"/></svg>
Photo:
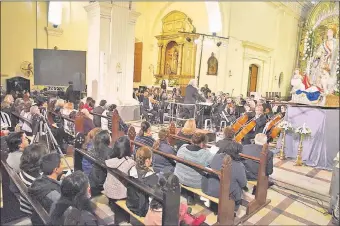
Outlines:
<svg viewBox="0 0 340 226"><path fill-rule="evenodd" d="M60 198L58 177L63 173L60 155L58 153L44 155L40 160L40 170L43 174L28 188L28 194L49 212L52 204ZM43 223L35 211L31 220L33 225Z"/></svg>

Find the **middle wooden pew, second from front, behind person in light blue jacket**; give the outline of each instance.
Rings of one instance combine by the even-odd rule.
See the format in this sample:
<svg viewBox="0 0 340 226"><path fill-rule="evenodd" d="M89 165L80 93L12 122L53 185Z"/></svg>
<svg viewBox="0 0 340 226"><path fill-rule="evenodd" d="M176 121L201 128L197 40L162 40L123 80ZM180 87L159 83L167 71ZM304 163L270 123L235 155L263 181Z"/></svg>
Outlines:
<svg viewBox="0 0 340 226"><path fill-rule="evenodd" d="M137 146L145 146L144 144L135 142L135 136L136 136L136 132L135 129L133 127L129 128L129 132L128 132L128 136L131 142L131 148L133 150L133 146L137 145ZM175 155L171 155L171 154L166 154L163 153L159 150L156 150L152 147L149 147L150 150L152 150L153 153L155 154L159 154L161 156L164 156L166 158L170 158L172 160L175 160L176 162L180 162L183 163L185 165L188 165L190 167L194 167L196 169L199 169L200 171L203 171L205 173L210 173L210 174L214 174L217 175L220 178L220 194L219 194L219 200L217 201L217 199L215 197L211 197L208 196L206 194L204 194L202 192L201 189L194 189L194 188L189 188L186 186L183 186L183 188L187 188L188 190L197 193L199 195L202 195L203 197L208 198L209 200L218 202L218 214L217 214L217 224L220 225L234 225L234 207L235 207L235 202L234 200L229 198L229 190L230 190L230 177L231 177L231 158L230 156L226 156L223 159L223 164L222 164L222 169L220 171L218 170L213 170L211 168L208 167L203 167L199 164L196 164L194 162L191 161L187 161L183 158L177 157Z"/></svg>

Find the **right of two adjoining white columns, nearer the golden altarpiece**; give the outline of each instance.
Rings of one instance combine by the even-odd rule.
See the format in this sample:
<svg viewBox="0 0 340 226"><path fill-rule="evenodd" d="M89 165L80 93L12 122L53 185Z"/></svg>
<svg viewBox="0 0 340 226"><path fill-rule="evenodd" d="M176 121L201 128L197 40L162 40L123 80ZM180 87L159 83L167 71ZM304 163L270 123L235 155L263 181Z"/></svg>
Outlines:
<svg viewBox="0 0 340 226"><path fill-rule="evenodd" d="M129 2L112 5L111 54L106 79L112 85L106 96L117 105L136 105L138 102L132 98L135 23L140 14L129 9Z"/></svg>

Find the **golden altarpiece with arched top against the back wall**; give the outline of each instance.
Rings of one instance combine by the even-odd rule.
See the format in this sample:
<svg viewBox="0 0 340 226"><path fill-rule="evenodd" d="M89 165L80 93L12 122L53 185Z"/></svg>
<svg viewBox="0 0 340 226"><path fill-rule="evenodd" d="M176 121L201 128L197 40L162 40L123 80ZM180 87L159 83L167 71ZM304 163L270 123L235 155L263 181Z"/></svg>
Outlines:
<svg viewBox="0 0 340 226"><path fill-rule="evenodd" d="M167 79L169 85L180 86L182 91L190 79L195 78L196 44L199 35L184 13L172 11L162 19L162 33L157 35L158 60L156 84Z"/></svg>

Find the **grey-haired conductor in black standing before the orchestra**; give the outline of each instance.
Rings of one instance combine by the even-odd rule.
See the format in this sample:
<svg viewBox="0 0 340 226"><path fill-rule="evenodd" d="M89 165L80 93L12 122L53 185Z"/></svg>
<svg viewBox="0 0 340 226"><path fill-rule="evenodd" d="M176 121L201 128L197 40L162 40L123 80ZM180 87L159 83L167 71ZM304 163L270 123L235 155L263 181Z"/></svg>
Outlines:
<svg viewBox="0 0 340 226"><path fill-rule="evenodd" d="M196 80L191 79L189 81L188 86L185 88L184 104L195 104L197 100L201 102L205 102L204 97L202 97L198 93L198 89L196 87ZM179 117L180 118L193 118L194 113L195 113L194 105L188 105L188 106L184 105L182 112L179 114Z"/></svg>

